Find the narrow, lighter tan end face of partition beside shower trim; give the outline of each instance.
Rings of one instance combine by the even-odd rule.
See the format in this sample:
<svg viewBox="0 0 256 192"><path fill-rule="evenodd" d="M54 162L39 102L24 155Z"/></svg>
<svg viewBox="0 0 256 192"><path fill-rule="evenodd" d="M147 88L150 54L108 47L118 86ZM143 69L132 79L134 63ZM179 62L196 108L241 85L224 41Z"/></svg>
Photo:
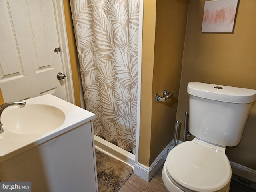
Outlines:
<svg viewBox="0 0 256 192"><path fill-rule="evenodd" d="M156 0L144 1L143 40L142 40L142 82L140 110L140 143L138 162L149 166L152 84L154 67L154 42L156 25ZM150 99L152 98L152 100Z"/></svg>

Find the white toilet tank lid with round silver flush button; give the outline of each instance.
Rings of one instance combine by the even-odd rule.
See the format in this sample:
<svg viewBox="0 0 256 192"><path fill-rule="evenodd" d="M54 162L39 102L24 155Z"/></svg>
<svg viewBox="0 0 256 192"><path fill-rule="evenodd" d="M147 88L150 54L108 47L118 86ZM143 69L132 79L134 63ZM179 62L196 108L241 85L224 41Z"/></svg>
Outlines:
<svg viewBox="0 0 256 192"><path fill-rule="evenodd" d="M256 100L256 90L224 85L189 82L190 95L229 103L251 103Z"/></svg>

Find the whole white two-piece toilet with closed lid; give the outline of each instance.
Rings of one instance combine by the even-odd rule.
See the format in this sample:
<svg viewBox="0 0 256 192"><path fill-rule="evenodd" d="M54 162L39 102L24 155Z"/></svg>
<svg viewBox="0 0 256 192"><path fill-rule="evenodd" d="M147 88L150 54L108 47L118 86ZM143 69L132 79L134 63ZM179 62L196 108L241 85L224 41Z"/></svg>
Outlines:
<svg viewBox="0 0 256 192"><path fill-rule="evenodd" d="M189 131L195 138L174 147L162 170L170 192L228 192L226 146L239 144L256 90L190 82Z"/></svg>

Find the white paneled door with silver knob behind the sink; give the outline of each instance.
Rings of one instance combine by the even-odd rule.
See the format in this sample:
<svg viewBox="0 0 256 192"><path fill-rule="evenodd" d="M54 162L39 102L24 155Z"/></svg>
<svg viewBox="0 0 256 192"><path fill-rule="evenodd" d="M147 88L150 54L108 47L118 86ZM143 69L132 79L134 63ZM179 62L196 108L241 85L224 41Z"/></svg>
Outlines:
<svg viewBox="0 0 256 192"><path fill-rule="evenodd" d="M4 102L53 94L67 100L53 0L0 1L0 87ZM61 50L62 51L62 50Z"/></svg>

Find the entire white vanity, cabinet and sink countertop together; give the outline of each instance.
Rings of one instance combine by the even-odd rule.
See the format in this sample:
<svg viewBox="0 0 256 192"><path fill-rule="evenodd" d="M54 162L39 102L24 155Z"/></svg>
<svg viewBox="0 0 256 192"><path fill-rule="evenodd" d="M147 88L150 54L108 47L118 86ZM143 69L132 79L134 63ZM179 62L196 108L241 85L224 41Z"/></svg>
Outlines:
<svg viewBox="0 0 256 192"><path fill-rule="evenodd" d="M98 192L95 115L50 94L25 102L24 108L8 107L3 112L11 117L15 110L26 111L31 122L22 126L20 122L30 118L17 118L19 132L6 126L0 134L0 180L31 182L32 192ZM63 123L49 130L60 117L46 116L43 108L60 110Z"/></svg>

